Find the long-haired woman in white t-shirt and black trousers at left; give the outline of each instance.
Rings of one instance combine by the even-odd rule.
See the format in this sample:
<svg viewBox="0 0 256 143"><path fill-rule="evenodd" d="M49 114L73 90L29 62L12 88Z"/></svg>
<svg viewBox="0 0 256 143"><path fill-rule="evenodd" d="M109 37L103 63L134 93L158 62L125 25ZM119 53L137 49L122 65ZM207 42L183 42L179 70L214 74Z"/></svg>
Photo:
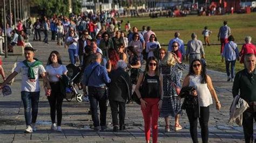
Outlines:
<svg viewBox="0 0 256 143"><path fill-rule="evenodd" d="M45 70L51 85L51 94L47 96L51 109L51 130L57 130L58 132L62 132L60 126L62 123L63 95L60 94L59 78L62 75L66 75L68 69L66 69L66 67L62 65L62 60L60 59L60 55L57 51L51 52ZM56 111L57 127L55 121Z"/></svg>

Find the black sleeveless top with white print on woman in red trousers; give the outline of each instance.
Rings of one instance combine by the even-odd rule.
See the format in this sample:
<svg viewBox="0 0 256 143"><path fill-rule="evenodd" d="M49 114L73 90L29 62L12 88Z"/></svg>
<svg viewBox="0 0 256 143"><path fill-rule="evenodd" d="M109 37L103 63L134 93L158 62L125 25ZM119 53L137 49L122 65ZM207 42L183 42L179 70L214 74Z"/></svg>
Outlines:
<svg viewBox="0 0 256 143"><path fill-rule="evenodd" d="M142 98L160 98L159 76L144 75L142 83Z"/></svg>

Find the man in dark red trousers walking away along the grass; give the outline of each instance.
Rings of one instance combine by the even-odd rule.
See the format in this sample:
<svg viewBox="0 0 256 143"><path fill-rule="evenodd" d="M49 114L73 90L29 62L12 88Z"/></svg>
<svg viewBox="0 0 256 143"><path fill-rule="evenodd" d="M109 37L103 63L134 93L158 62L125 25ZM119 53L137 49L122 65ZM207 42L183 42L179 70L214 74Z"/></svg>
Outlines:
<svg viewBox="0 0 256 143"><path fill-rule="evenodd" d="M230 27L227 26L227 21L223 22L224 26L221 26L218 33L218 41L220 40L220 54L223 52L225 44L228 42L227 38L231 35Z"/></svg>

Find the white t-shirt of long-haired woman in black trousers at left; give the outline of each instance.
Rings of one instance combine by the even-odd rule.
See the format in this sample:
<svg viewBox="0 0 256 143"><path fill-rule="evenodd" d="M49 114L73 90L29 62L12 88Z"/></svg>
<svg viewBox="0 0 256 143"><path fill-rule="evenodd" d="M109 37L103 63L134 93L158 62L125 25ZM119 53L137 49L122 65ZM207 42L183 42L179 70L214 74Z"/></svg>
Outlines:
<svg viewBox="0 0 256 143"><path fill-rule="evenodd" d="M58 68L53 68L51 65L45 67L46 73L48 73L49 81L50 82L57 82L59 78L56 75L63 75L68 71L66 66L60 65Z"/></svg>

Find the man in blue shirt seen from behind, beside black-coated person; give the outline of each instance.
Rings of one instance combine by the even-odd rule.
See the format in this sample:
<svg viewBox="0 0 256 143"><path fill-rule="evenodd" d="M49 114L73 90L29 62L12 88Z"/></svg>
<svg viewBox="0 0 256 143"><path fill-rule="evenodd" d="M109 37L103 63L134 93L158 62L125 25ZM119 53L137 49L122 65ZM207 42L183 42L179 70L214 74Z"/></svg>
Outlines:
<svg viewBox="0 0 256 143"><path fill-rule="evenodd" d="M102 54L95 53L94 62L84 70L83 91L88 86L90 108L92 113L93 126L95 131L106 129L106 83L110 83L106 68L100 65ZM100 121L98 118L97 107L99 103Z"/></svg>

